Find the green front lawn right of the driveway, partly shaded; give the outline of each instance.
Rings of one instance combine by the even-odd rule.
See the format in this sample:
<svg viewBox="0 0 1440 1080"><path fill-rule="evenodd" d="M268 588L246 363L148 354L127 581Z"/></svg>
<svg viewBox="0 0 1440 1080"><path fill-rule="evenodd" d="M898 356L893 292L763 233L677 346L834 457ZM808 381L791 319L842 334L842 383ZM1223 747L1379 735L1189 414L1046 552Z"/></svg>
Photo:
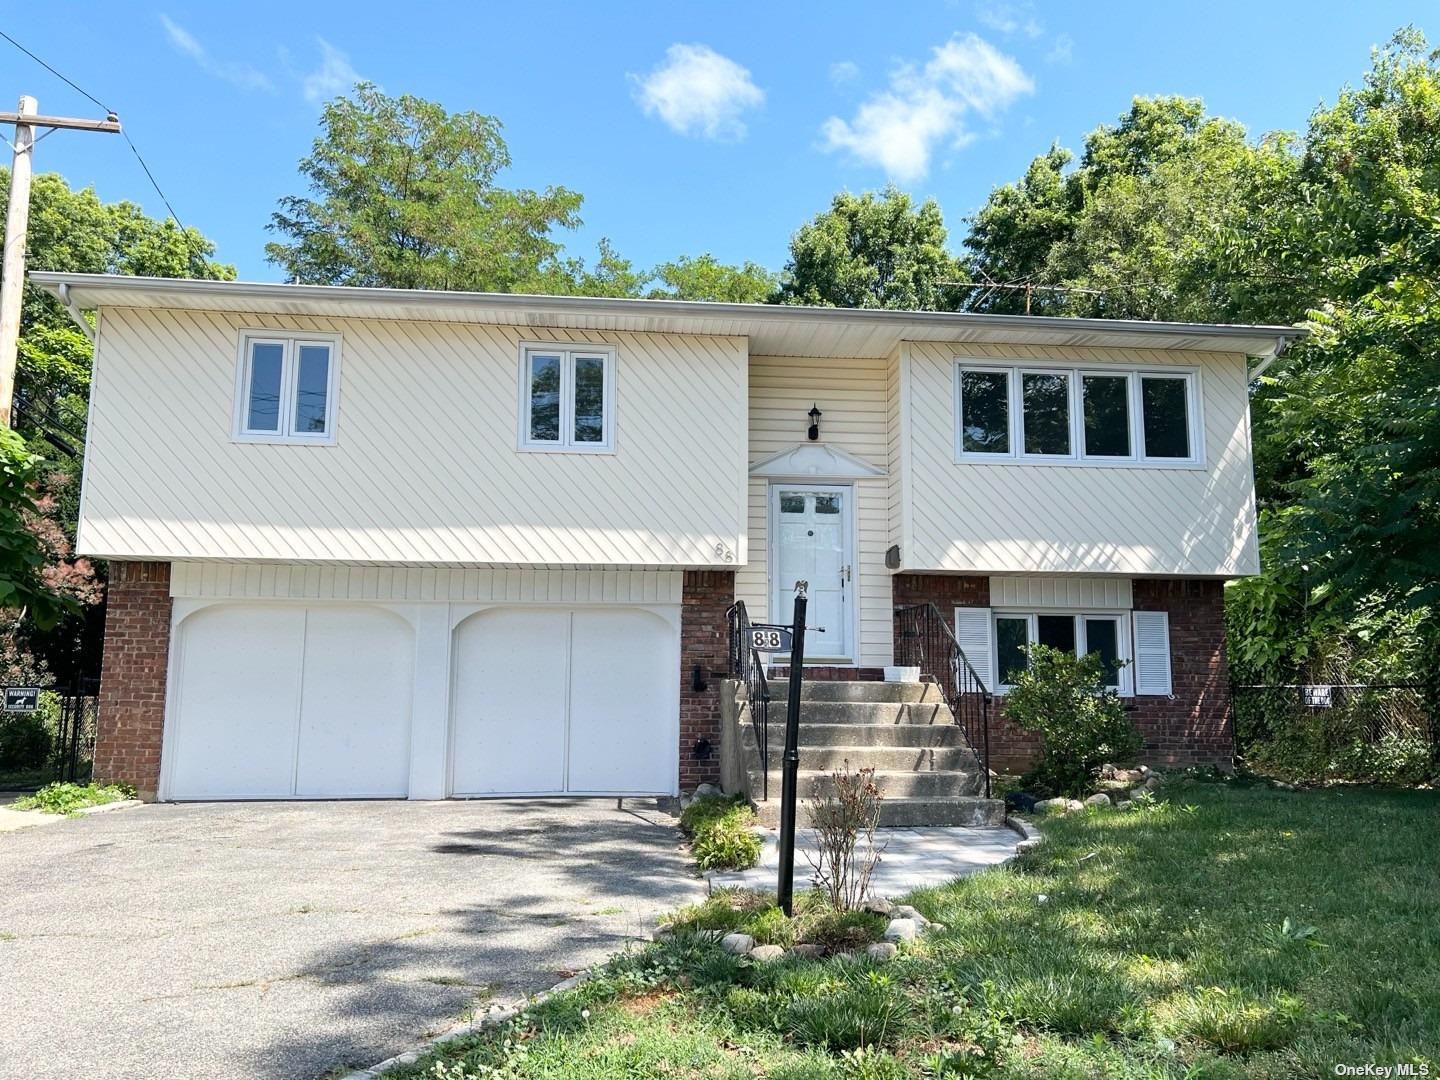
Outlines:
<svg viewBox="0 0 1440 1080"><path fill-rule="evenodd" d="M752 965L683 933L395 1076L1436 1076L1437 821L1436 792L1179 780L914 894L948 929L890 963ZM776 922L740 907L678 922Z"/></svg>

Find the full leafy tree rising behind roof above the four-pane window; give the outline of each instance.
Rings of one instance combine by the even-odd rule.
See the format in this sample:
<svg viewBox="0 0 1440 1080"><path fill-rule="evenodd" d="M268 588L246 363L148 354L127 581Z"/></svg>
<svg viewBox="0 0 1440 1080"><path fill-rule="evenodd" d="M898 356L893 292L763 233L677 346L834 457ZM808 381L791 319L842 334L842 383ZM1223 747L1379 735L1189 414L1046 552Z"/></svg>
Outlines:
<svg viewBox="0 0 1440 1080"><path fill-rule="evenodd" d="M1198 99L1136 98L1090 132L1073 161L1051 147L1020 181L991 193L965 242L971 279L1043 287L1030 297L1032 314L1257 317L1244 282L1237 289L1221 271L1221 238L1251 228L1293 173L1287 138L1251 144ZM966 307L1022 312L1025 294L975 288ZM1303 307L1290 295L1284 311L1299 318ZM1274 307L1263 317L1277 318Z"/></svg>

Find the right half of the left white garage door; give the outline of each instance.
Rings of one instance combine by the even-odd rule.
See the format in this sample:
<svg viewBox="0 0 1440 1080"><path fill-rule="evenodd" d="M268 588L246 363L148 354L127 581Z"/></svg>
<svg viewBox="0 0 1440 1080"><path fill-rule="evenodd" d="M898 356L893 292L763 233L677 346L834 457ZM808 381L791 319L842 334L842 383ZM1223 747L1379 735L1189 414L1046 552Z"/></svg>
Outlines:
<svg viewBox="0 0 1440 1080"><path fill-rule="evenodd" d="M295 793L403 796L415 644L399 616L312 608L305 619Z"/></svg>

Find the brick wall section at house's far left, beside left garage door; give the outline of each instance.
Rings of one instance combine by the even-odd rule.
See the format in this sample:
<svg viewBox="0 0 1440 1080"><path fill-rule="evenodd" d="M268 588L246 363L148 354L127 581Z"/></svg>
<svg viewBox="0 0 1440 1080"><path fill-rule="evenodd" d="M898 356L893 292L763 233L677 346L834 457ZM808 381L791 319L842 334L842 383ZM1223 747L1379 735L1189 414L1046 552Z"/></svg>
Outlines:
<svg viewBox="0 0 1440 1080"><path fill-rule="evenodd" d="M170 657L170 563L109 564L95 779L130 783L144 799L160 783Z"/></svg>

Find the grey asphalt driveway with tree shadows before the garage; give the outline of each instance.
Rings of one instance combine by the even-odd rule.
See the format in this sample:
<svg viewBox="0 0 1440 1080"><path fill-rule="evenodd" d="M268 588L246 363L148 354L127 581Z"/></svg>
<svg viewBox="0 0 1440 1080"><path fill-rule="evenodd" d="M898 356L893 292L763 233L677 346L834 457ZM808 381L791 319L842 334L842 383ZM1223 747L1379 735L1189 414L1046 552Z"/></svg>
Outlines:
<svg viewBox="0 0 1440 1080"><path fill-rule="evenodd" d="M0 835L17 1077L367 1066L703 893L644 802L154 805Z"/></svg>

